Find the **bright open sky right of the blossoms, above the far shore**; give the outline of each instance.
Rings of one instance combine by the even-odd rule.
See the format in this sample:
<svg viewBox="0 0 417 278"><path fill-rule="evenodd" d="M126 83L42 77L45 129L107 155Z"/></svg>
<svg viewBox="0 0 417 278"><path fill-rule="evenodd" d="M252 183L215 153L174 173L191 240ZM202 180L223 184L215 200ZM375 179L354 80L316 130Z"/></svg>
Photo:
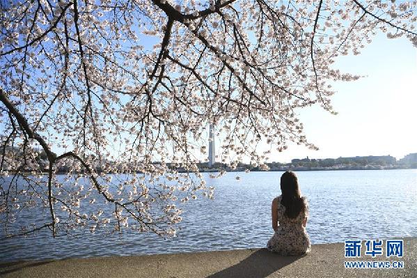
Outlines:
<svg viewBox="0 0 417 278"><path fill-rule="evenodd" d="M417 49L409 40L379 34L358 56L339 57L335 68L365 77L334 84L338 115L321 107L299 111L307 139L320 150L290 144L269 161L356 155L399 159L417 153Z"/></svg>

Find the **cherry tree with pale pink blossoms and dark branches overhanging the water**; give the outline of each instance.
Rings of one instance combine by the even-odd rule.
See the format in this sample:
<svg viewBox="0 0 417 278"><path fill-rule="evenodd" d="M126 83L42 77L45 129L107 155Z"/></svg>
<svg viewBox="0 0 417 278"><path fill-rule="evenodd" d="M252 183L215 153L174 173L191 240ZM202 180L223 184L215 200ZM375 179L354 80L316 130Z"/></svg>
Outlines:
<svg viewBox="0 0 417 278"><path fill-rule="evenodd" d="M231 168L244 157L266 168L262 142L317 148L297 111L336 113L331 83L359 77L333 63L377 32L417 47L416 6L1 0L3 238L83 228L175 235L179 201L213 198L197 166L208 125ZM19 222L33 211L36 222Z"/></svg>

